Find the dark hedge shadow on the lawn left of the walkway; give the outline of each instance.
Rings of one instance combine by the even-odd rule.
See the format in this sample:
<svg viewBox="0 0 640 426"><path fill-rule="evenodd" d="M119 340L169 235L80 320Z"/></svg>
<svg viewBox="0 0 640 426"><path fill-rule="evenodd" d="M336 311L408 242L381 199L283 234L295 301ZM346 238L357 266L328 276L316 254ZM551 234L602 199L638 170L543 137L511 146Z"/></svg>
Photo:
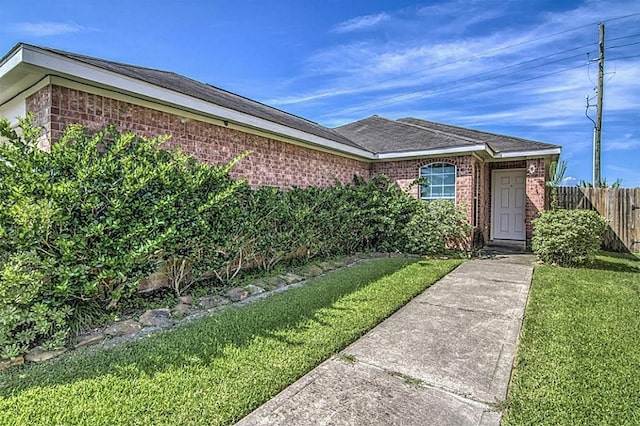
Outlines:
<svg viewBox="0 0 640 426"><path fill-rule="evenodd" d="M17 395L36 386L106 376L131 379L190 365L209 365L226 356L225 348L247 347L258 337L297 346L301 343L289 339L289 332L303 331L311 322L330 325L331 317L337 312L352 310L335 306L337 301L411 263L406 259L368 262L142 340L104 350L92 348L90 353L79 351L52 362L10 369L0 373L0 396Z"/></svg>

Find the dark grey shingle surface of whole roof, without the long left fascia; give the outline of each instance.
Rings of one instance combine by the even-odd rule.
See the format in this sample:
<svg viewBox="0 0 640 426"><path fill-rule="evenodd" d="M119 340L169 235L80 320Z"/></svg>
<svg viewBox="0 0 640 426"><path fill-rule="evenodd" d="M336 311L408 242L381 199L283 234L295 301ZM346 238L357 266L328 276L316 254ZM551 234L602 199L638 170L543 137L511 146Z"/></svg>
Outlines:
<svg viewBox="0 0 640 426"><path fill-rule="evenodd" d="M29 45L20 43L12 51L20 46ZM330 129L302 117L173 72L112 62L46 47L30 47L191 96L213 105L286 126L303 133L315 135L351 148L369 151L373 154L402 154L404 152L438 149L458 149L459 152L459 148L469 148L471 150L473 147L482 144L486 144L496 153L560 148L557 145L543 142L435 123L418 118L390 120L374 115ZM6 56L2 61L5 59ZM318 143L322 144L322 142Z"/></svg>

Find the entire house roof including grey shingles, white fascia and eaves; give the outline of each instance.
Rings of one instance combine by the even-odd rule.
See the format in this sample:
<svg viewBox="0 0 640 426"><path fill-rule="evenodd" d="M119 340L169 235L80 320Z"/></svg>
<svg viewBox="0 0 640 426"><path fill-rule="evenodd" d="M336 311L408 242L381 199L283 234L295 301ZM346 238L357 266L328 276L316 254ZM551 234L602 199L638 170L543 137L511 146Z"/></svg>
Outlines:
<svg viewBox="0 0 640 426"><path fill-rule="evenodd" d="M372 116L335 129L174 72L123 64L20 43L0 59L0 108L19 113L14 102L44 79L72 81L284 136L292 143L365 160L463 155L486 159L559 155L560 147L418 118ZM51 80L49 80L51 81ZM13 108L13 109L11 109ZM22 112L24 113L24 112Z"/></svg>

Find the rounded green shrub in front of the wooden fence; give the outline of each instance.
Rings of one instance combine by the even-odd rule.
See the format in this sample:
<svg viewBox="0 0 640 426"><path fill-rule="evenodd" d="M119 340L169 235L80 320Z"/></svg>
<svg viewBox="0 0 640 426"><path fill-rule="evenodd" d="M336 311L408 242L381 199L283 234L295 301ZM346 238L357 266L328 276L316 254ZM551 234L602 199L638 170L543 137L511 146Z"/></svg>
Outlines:
<svg viewBox="0 0 640 426"><path fill-rule="evenodd" d="M544 262L574 266L590 262L602 244L607 220L591 210L549 210L533 221L533 252Z"/></svg>

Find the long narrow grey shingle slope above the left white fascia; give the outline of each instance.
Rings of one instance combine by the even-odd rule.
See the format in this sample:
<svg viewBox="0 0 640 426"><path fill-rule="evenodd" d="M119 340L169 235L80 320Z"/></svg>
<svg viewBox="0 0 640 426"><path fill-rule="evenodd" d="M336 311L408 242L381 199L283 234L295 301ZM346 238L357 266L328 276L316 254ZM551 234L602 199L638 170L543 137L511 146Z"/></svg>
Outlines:
<svg viewBox="0 0 640 426"><path fill-rule="evenodd" d="M36 46L32 46L36 47ZM52 52L69 59L80 61L98 68L118 73L130 78L142 80L165 89L178 93L193 96L203 101L211 102L235 111L243 112L255 117L282 124L303 132L316 136L331 139L335 142L343 143L360 148L351 140L334 132L332 129L321 126L313 121L298 117L277 108L262 104L252 99L231 93L210 84L201 83L188 77L170 71L162 71L153 68L145 68L136 65L123 64L119 62L107 61L91 56L66 52L57 49L39 47L39 49Z"/></svg>

